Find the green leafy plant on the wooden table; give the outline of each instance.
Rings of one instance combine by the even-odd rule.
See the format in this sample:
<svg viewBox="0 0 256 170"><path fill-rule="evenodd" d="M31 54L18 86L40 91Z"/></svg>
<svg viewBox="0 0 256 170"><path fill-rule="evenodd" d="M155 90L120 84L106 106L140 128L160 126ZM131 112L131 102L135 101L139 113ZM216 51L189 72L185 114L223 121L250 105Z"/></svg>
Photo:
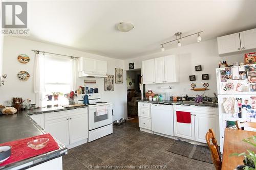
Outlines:
<svg viewBox="0 0 256 170"><path fill-rule="evenodd" d="M244 142L253 145L256 148L256 136L252 136L248 139L243 139ZM239 165L237 167L238 170L255 170L256 166L256 153L253 151L247 150L247 153L233 153L231 156L244 156L244 165Z"/></svg>

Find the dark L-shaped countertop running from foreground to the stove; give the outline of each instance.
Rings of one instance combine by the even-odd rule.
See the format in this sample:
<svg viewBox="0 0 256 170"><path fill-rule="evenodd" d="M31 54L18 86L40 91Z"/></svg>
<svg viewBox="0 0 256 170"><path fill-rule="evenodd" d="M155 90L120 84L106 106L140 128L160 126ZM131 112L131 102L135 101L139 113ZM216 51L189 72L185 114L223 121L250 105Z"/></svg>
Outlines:
<svg viewBox="0 0 256 170"><path fill-rule="evenodd" d="M56 111L64 111L71 110L76 108L83 108L88 106L80 106L80 107L72 107L72 108L63 108L63 107L53 107L53 108L41 108L41 109L33 109L26 111L19 111L16 114L12 115L0 115L0 143L13 141L17 139L23 139L27 137L37 136L46 134L44 131L29 115L32 114L41 114L41 113L50 113ZM55 139L56 140L56 139ZM59 149L55 151L51 151L45 154L41 154L29 159L25 159L19 162L15 162L3 167L3 169L10 169L13 167L18 167L18 169L29 168L40 163L44 163L51 159L58 158L60 156L66 155L68 149L61 142L56 140L59 145Z"/></svg>

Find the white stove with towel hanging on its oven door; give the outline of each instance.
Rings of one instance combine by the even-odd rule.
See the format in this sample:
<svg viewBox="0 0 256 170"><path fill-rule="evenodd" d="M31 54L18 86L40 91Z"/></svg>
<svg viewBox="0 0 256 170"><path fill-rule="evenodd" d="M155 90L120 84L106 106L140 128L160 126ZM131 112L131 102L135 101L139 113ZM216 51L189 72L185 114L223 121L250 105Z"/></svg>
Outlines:
<svg viewBox="0 0 256 170"><path fill-rule="evenodd" d="M83 96L77 95L77 103L83 103ZM112 103L102 102L100 93L87 94L89 99L88 105L88 128L89 142L113 133L113 110Z"/></svg>

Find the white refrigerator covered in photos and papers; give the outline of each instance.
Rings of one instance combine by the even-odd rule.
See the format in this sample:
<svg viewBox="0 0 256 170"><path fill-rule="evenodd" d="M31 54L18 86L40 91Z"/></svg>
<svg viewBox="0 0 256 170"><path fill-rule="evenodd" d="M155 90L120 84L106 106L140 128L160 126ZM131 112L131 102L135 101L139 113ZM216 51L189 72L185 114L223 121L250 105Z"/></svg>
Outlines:
<svg viewBox="0 0 256 170"><path fill-rule="evenodd" d="M216 69L220 150L225 128L235 128L236 120L256 122L256 66L243 65ZM245 129L255 131L256 129Z"/></svg>

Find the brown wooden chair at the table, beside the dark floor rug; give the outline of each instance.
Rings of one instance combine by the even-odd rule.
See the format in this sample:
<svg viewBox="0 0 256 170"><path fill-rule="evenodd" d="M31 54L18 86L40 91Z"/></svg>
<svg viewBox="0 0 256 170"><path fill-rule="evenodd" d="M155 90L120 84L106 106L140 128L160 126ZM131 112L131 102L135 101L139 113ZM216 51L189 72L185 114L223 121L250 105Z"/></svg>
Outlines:
<svg viewBox="0 0 256 170"><path fill-rule="evenodd" d="M216 170L221 170L221 152L220 147L217 144L214 130L209 129L209 132L207 132L205 135L205 139L211 153L212 162L214 163Z"/></svg>

